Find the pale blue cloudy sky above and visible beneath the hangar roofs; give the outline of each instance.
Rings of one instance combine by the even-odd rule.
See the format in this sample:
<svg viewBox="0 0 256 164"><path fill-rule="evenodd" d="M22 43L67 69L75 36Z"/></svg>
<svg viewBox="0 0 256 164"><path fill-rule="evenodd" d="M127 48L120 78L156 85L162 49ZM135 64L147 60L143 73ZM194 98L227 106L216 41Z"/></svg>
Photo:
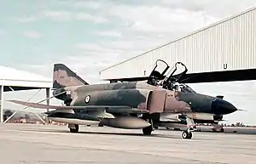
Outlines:
<svg viewBox="0 0 256 164"><path fill-rule="evenodd" d="M254 0L19 2L3 1L0 6L0 65L51 78L53 65L63 63L89 83L101 82L99 71L110 65L256 5ZM246 85L218 82L191 87L213 95L222 93L224 98L248 110L255 98L247 88L242 89L248 85L254 88L254 82ZM241 95L232 93L234 89L246 94L251 104L236 100ZM15 98L26 100L36 92L16 92ZM14 98L14 93L6 93L5 98ZM44 99L44 91L32 100L40 99ZM55 99L52 102L60 104ZM252 124L253 118L256 120L252 109L249 114L233 115L228 117L230 122L242 122L241 116L248 117L244 121L247 124Z"/></svg>

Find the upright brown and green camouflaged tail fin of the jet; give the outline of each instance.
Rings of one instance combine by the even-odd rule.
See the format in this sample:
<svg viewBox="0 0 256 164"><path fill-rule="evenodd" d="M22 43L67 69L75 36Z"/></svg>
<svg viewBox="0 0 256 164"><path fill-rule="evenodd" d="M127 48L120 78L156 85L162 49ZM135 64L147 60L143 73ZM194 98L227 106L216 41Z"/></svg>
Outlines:
<svg viewBox="0 0 256 164"><path fill-rule="evenodd" d="M63 64L54 65L53 88L64 88L68 86L89 85L80 76Z"/></svg>

